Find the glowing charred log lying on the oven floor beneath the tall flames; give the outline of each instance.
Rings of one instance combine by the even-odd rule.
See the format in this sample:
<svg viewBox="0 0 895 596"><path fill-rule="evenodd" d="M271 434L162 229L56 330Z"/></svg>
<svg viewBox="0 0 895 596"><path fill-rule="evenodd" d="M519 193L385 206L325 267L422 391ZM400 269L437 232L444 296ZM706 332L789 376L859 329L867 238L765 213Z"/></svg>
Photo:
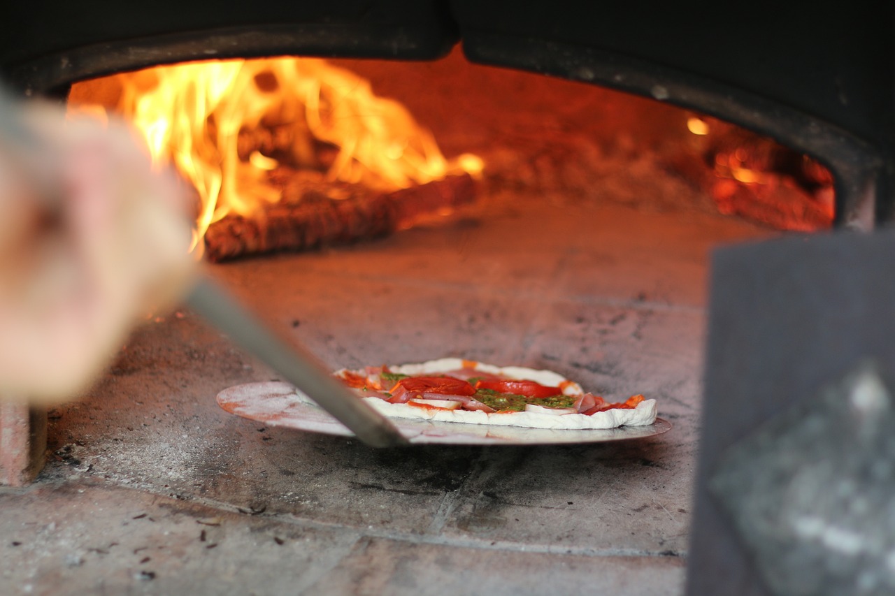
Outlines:
<svg viewBox="0 0 895 596"><path fill-rule="evenodd" d="M273 251L308 251L394 234L473 202L468 174L450 175L395 192L358 184L286 183L283 200L251 217L229 215L209 226L205 253L211 261Z"/></svg>

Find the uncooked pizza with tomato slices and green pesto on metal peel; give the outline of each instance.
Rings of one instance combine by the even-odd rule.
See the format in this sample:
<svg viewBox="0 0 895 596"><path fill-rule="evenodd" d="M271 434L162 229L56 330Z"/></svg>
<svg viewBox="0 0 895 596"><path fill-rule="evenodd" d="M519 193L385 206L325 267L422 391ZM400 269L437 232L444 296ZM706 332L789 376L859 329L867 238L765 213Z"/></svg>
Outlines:
<svg viewBox="0 0 895 596"><path fill-rule="evenodd" d="M379 413L392 418L537 429L614 429L656 420L656 400L609 403L551 370L442 358L337 370Z"/></svg>

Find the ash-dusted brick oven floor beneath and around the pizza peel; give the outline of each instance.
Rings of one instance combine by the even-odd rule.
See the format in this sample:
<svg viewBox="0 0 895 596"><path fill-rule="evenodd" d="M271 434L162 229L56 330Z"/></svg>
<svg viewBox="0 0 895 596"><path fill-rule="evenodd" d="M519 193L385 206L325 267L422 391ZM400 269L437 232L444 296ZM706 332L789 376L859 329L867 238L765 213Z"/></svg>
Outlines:
<svg viewBox="0 0 895 596"><path fill-rule="evenodd" d="M269 428L214 397L276 375L179 311L50 413L38 481L0 489L0 593L679 593L708 251L768 234L686 209L497 201L374 243L215 266L334 368L550 368L655 397L674 429L374 450Z"/></svg>

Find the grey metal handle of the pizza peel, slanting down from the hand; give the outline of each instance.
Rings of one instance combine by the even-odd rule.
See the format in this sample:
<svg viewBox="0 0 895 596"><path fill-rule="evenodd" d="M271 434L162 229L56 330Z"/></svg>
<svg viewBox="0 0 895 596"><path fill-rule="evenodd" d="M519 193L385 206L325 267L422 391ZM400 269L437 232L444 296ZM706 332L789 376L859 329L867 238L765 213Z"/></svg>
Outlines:
<svg viewBox="0 0 895 596"><path fill-rule="evenodd" d="M394 447L407 443L391 422L334 379L311 353L277 336L207 277L200 277L186 302L244 350L299 387L367 445Z"/></svg>

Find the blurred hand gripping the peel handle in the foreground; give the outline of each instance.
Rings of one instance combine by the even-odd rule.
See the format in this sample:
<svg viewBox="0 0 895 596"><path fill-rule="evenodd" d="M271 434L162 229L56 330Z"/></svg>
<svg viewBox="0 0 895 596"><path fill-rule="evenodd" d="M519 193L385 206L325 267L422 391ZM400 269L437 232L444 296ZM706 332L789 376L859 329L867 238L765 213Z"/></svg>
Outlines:
<svg viewBox="0 0 895 596"><path fill-rule="evenodd" d="M187 194L121 123L14 117L41 159L0 132L0 399L61 401L189 284Z"/></svg>

